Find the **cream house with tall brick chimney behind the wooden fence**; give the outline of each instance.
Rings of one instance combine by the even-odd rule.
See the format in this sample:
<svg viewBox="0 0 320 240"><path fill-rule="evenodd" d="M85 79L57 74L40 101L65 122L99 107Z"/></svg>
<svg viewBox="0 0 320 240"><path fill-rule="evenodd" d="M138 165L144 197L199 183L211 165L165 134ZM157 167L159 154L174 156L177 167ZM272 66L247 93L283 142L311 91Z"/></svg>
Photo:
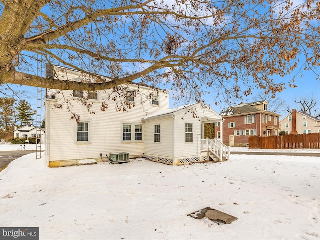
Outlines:
<svg viewBox="0 0 320 240"><path fill-rule="evenodd" d="M286 134L318 133L320 132L320 119L292 109L290 114L280 120L279 127Z"/></svg>

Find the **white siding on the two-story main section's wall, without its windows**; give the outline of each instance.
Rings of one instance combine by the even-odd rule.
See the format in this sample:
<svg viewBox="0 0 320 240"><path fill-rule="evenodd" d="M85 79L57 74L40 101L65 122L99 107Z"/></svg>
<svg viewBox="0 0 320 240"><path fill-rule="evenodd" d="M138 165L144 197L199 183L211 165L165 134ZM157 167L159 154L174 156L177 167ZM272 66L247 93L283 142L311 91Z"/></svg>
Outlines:
<svg viewBox="0 0 320 240"><path fill-rule="evenodd" d="M134 85L132 86L132 89L133 87ZM139 91L141 94L138 94L135 97L136 102L142 102L142 97L150 94L150 91L145 87L140 87ZM112 90L98 91L98 98L107 99L111 92ZM73 98L72 90L63 91L63 94L64 96L70 96L71 99ZM136 105L129 109L128 112L116 111L117 102L112 100L107 101L108 108L105 111L100 110L100 103L92 104L91 110L95 112L95 114L92 115L88 113L85 106L75 104L73 111L81 116L81 121L91 118L89 124L91 144L85 144L84 142L77 143L76 121L70 120L71 116L65 106L62 109L54 107L54 104L57 101L63 99L62 94L58 94L54 100L47 100L46 108L49 113L46 116L50 118L50 120L48 120L50 124L46 126L47 131L45 134L50 135L50 150L47 153L50 154L50 161L85 158L100 159L100 153L105 157L105 154L111 152L128 152L130 157L142 156L144 153L144 135L142 135L142 141L134 141L134 125L143 126L141 118L146 115L146 112L149 115L168 109L168 93L159 92L158 96L159 101L161 102L160 106L154 107L151 104L144 104L142 106L141 104L136 103ZM125 100L125 97L123 97L122 100ZM61 122L63 122L63 124L61 124ZM131 124L131 141L123 141L123 124ZM143 127L142 131L144 132ZM153 138L153 131L151 131L151 133ZM42 138L44 139L44 137L41 137L41 139ZM46 139L48 138L46 137ZM61 144L61 139L63 139L63 144ZM63 153L63 155L61 155L61 153Z"/></svg>

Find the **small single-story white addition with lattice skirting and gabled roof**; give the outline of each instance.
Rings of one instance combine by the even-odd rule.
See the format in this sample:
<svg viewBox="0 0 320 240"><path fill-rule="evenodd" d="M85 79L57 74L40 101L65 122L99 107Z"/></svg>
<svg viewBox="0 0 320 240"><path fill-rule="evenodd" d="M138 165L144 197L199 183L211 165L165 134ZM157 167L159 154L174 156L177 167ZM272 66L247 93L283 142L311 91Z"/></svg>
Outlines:
<svg viewBox="0 0 320 240"><path fill-rule="evenodd" d="M142 121L144 156L180 165L209 160L207 151L202 151L204 124L221 122L222 117L208 106L196 103L157 112Z"/></svg>

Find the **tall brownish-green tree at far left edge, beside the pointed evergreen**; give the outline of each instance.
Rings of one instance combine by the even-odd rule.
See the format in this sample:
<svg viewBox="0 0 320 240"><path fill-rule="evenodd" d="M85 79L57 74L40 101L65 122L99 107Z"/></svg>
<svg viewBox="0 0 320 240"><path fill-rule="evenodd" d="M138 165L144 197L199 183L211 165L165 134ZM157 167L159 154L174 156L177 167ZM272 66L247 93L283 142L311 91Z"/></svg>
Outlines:
<svg viewBox="0 0 320 240"><path fill-rule="evenodd" d="M14 130L15 109L14 98L0 97L0 139Z"/></svg>

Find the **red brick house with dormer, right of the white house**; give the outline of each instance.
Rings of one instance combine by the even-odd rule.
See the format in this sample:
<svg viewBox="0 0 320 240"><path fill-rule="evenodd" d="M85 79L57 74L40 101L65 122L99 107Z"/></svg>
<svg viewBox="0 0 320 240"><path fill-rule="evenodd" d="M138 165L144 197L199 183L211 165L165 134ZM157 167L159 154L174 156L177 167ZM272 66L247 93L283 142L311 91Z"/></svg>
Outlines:
<svg viewBox="0 0 320 240"><path fill-rule="evenodd" d="M220 114L223 118L222 142L229 146L248 146L249 137L279 134L279 114L268 111L267 101L230 106ZM221 138L221 125L215 123L215 136Z"/></svg>

